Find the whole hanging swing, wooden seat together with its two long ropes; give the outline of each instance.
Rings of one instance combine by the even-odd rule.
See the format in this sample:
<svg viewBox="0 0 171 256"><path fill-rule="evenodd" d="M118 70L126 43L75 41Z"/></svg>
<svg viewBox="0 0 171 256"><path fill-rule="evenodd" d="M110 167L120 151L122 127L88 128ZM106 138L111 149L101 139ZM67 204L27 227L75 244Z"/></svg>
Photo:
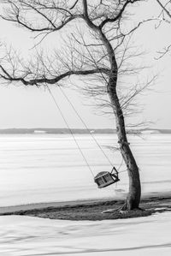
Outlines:
<svg viewBox="0 0 171 256"><path fill-rule="evenodd" d="M47 85L46 85L46 86L47 86ZM109 171L101 171L101 172L99 172L99 173L97 174L97 176L94 176L94 175L93 175L93 172L92 172L92 170L91 170L91 166L88 164L88 162L87 162L87 160L86 160L86 158L85 158L84 153L82 152L82 150L81 150L81 148L80 148L80 146L79 146L77 140L76 140L75 137L74 137L74 134L73 134L71 128L70 128L69 125L68 125L68 122L67 122L66 118L63 116L62 110L60 109L59 105L58 105L57 102L56 102L56 98L54 98L52 92L50 91L50 87L47 86L47 88L48 88L48 91L50 92L51 97L53 98L53 100L54 100L54 102L55 102L55 104L56 104L57 109L58 109L59 112L61 113L62 118L63 118L64 122L66 123L66 125L67 125L67 127L68 127L68 129L69 129L69 131L70 131L70 134L73 136L74 142L75 142L75 144L77 145L77 147L78 147L78 149L79 149L79 151L80 151L80 154L82 155L82 157L83 157L84 160L85 160L85 164L87 165L87 167L88 167L89 170L91 171L91 175L92 175L93 178L94 178L94 182L97 183L97 187L98 187L98 188L105 188L105 187L108 187L109 185L111 185L111 184L113 184L113 183L115 183L115 182L119 182L120 179L119 179L119 177L118 177L118 171L115 169L115 166L112 168L112 170L111 170L110 172L109 172ZM80 121L84 124L85 128L86 128L86 129L89 131L89 133L91 134L91 131L87 128L85 122L83 121L83 119L81 118L81 116L79 115L79 113L77 112L77 110L74 109L74 105L70 102L68 96L62 91L62 88L61 88L60 86L59 86L59 88L61 89L61 92L62 92L63 96L68 100L68 103L71 105L71 107L73 108L73 110L74 110L74 112L76 113L76 115L80 118ZM103 151L103 148L98 144L98 142L97 142L97 140L95 139L95 137L94 137L92 134L91 134L91 137L92 137L92 139L96 142L96 144L97 144L97 146L99 147L99 149L103 152L103 155L104 155L104 157L108 160L109 164L111 164L111 166L113 166L113 164L110 162L108 156L107 156L106 153ZM115 173L113 173L113 171L115 171Z"/></svg>

